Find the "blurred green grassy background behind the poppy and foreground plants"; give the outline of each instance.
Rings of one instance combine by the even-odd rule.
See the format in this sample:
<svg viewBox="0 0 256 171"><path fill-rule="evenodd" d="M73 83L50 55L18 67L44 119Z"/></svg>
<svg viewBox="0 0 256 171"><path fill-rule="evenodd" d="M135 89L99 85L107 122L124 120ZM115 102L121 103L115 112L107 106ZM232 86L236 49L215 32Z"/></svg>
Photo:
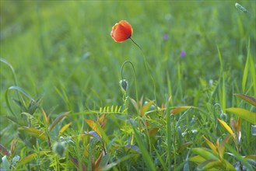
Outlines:
<svg viewBox="0 0 256 171"><path fill-rule="evenodd" d="M135 65L139 97L154 99L142 52L131 40L119 44L110 37L114 23L126 19L149 62L158 105L170 94L170 79L174 105L199 106L199 81L219 79L217 46L228 94L234 82L240 91L249 39L255 57L255 1L236 2L1 1L0 57L15 68L19 86L35 99L43 97L44 109L54 113L121 105L118 82L126 60ZM130 66L124 79L135 99ZM9 113L4 92L13 85L10 69L1 63L1 114Z"/></svg>

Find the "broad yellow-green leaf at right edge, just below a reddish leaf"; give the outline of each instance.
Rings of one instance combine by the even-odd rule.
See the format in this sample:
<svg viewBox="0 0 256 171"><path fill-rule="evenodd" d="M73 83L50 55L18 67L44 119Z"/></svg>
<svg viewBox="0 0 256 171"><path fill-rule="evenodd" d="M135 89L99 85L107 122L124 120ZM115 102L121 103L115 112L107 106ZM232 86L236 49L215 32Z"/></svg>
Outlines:
<svg viewBox="0 0 256 171"><path fill-rule="evenodd" d="M249 110L244 110L242 108L231 107L227 108L226 111L237 114L244 120L247 120L251 124L256 124L256 113L250 112Z"/></svg>

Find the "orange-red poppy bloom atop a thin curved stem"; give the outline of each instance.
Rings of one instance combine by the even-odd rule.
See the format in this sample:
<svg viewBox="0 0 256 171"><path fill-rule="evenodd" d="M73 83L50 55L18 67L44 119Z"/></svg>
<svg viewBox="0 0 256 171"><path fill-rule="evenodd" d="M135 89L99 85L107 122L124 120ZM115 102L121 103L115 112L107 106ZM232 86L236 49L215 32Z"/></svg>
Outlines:
<svg viewBox="0 0 256 171"><path fill-rule="evenodd" d="M132 26L125 20L121 20L112 27L111 37L116 42L123 42L132 37Z"/></svg>

